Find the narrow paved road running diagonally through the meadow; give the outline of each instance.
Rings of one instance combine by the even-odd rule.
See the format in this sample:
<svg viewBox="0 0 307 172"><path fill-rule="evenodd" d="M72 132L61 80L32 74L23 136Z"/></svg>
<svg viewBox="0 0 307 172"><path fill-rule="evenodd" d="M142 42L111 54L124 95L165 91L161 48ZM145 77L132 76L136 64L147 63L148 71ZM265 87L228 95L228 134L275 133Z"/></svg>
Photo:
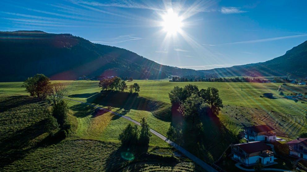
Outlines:
<svg viewBox="0 0 307 172"><path fill-rule="evenodd" d="M65 98L63 97L64 99L68 99L68 98ZM74 102L78 102L78 103L83 103L83 104L87 104L87 105L90 105L90 106L93 106L93 107L96 107L97 109L101 109L101 110L104 110L104 111L109 111L115 115L118 115L120 116L121 118L125 118L126 120L129 120L135 124L138 124L140 125L139 122L137 122L136 120L132 120L130 117L128 116L124 116L124 115L120 115L119 113L116 113L116 112L113 112L113 111L110 111L109 109L105 109L105 108L102 108L102 107L98 107L98 106L95 106L93 104L90 104L90 103L84 103L84 102L81 102L81 101L78 101L78 100L73 100L73 99L68 99L68 100L71 100L71 101L74 101ZM174 148L176 148L178 151L180 151L181 153L183 153L185 156L187 156L188 158L190 158L192 161L194 161L195 163L197 163L199 166L201 166L203 169L207 170L208 172L218 172L217 170L215 170L213 167L209 166L207 163L203 162L201 159L199 159L198 157L194 156L192 153L188 152L187 150L185 150L183 147L177 145L175 142L169 140L168 138L166 138L165 136L163 136L162 134L158 133L157 131L153 130L150 128L150 132L152 132L154 135L158 136L159 138L161 138L163 141L165 141L166 143L168 143L169 145L173 146Z"/></svg>

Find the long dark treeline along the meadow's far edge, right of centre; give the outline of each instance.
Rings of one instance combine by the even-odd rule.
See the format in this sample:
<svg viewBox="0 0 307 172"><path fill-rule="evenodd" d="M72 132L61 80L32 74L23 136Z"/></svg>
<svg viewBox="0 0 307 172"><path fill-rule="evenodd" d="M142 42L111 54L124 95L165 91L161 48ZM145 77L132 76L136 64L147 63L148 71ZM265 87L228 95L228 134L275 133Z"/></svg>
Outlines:
<svg viewBox="0 0 307 172"><path fill-rule="evenodd" d="M263 80L263 79L256 79L256 78L201 78L201 77L194 77L194 78L184 78L184 77L173 77L170 82L278 82L278 83L288 83L291 82L291 80L288 80L287 78L283 79L280 77L275 77L274 80Z"/></svg>

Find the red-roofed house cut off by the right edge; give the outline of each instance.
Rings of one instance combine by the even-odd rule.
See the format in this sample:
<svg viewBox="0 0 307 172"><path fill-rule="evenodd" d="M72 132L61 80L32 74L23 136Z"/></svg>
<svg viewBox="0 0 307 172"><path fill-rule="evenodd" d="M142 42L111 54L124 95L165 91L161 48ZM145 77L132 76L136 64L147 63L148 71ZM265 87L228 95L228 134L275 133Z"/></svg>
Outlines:
<svg viewBox="0 0 307 172"><path fill-rule="evenodd" d="M289 155L307 160L307 138L299 138L286 143L289 145Z"/></svg>

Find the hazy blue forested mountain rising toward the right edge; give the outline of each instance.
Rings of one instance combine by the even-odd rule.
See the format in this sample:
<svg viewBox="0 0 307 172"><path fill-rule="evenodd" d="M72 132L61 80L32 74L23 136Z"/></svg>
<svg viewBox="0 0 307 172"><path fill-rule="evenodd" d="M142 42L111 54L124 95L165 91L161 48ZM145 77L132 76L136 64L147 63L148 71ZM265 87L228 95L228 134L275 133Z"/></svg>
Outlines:
<svg viewBox="0 0 307 172"><path fill-rule="evenodd" d="M307 77L307 41L272 60L228 68L200 70L218 76L286 76Z"/></svg>

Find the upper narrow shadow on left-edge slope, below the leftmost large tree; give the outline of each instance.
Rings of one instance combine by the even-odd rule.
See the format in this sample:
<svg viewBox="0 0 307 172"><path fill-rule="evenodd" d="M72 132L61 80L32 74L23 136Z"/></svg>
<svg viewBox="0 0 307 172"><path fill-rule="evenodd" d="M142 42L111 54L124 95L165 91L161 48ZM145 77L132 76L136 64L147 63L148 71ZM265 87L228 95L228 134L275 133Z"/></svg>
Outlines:
<svg viewBox="0 0 307 172"><path fill-rule="evenodd" d="M40 100L26 95L10 96L6 100L0 102L0 113L21 105L27 105L37 102L40 102Z"/></svg>

